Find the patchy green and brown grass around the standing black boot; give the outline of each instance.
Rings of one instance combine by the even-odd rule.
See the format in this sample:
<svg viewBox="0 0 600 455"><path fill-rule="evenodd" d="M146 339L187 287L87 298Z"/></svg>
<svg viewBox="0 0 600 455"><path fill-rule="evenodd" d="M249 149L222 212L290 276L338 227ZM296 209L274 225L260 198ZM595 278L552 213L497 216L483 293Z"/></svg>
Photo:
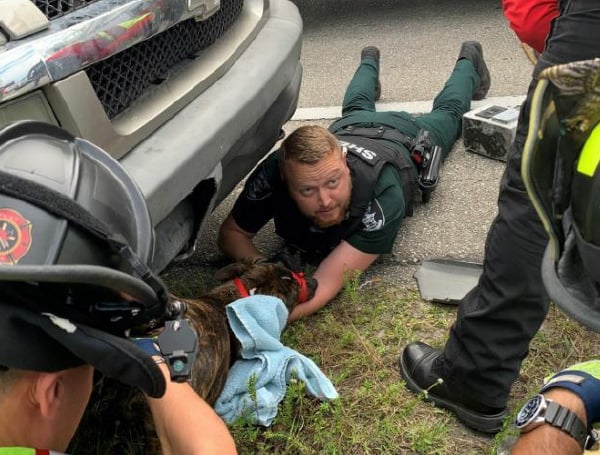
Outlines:
<svg viewBox="0 0 600 455"><path fill-rule="evenodd" d="M175 292L189 279L180 272L175 269L166 276ZM198 282L200 287L211 285L210 280L196 279ZM319 313L291 324L282 335L285 345L317 363L334 383L340 398L321 402L306 392L302 382L293 380L270 427L255 425L251 414L230 425L239 452L496 453L498 445L514 438L509 422L495 438L472 432L451 413L406 390L397 371L398 355L407 343L421 340L437 347L444 345L456 309L425 302L418 292L393 282L350 277L333 302ZM513 386L509 403L513 415L538 390L545 375L598 357L598 341L598 334L552 306ZM139 434L132 433L131 437L139 438ZM111 453L103 450L96 453Z"/></svg>

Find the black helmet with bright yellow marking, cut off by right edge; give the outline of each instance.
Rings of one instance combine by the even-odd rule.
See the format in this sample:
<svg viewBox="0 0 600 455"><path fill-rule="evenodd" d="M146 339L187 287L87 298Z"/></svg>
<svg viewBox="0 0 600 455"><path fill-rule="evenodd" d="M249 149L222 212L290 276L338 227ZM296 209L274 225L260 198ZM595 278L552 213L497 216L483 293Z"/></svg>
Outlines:
<svg viewBox="0 0 600 455"><path fill-rule="evenodd" d="M540 78L522 173L550 236L542 279L567 315L600 331L600 59Z"/></svg>

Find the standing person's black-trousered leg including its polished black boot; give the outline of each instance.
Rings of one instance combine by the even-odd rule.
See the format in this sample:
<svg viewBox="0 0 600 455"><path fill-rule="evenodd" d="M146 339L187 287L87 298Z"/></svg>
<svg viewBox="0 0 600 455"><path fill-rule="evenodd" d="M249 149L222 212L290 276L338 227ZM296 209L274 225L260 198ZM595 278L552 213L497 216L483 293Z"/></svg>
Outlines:
<svg viewBox="0 0 600 455"><path fill-rule="evenodd" d="M441 378L429 398L468 427L489 433L502 427L510 387L548 307L540 273L547 236L520 176L528 119L529 97L500 185L483 273L460 302L444 351L417 342L400 357L410 389L427 389Z"/></svg>

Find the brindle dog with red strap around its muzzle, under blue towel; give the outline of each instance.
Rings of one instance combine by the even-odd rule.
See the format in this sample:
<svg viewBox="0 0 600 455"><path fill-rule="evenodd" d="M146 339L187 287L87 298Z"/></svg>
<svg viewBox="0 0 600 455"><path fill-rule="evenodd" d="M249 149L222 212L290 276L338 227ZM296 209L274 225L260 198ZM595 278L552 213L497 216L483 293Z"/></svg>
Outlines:
<svg viewBox="0 0 600 455"><path fill-rule="evenodd" d="M314 278L274 262L233 263L220 269L215 278L222 284L199 298L171 296L185 304L185 317L198 335L191 384L211 406L221 394L240 350L227 322L225 307L240 297L264 294L280 298L291 312L298 303L310 300L317 288ZM100 387L94 388L90 404L69 453L89 453L90 447L98 448L100 444L108 447L98 449L97 453L160 453L150 410L139 390L104 379Z"/></svg>

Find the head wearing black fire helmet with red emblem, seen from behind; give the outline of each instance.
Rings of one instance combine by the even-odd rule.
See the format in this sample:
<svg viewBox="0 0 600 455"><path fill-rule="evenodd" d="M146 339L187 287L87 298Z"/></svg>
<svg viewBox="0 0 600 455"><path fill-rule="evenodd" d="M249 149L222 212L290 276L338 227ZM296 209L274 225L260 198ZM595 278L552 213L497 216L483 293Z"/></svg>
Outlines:
<svg viewBox="0 0 600 455"><path fill-rule="evenodd" d="M30 422L27 439L7 441L23 422L0 420L1 443L64 450L94 370L164 393L160 369L127 339L166 311L152 249L144 198L108 154L39 122L0 131L0 402L24 400L14 415Z"/></svg>

